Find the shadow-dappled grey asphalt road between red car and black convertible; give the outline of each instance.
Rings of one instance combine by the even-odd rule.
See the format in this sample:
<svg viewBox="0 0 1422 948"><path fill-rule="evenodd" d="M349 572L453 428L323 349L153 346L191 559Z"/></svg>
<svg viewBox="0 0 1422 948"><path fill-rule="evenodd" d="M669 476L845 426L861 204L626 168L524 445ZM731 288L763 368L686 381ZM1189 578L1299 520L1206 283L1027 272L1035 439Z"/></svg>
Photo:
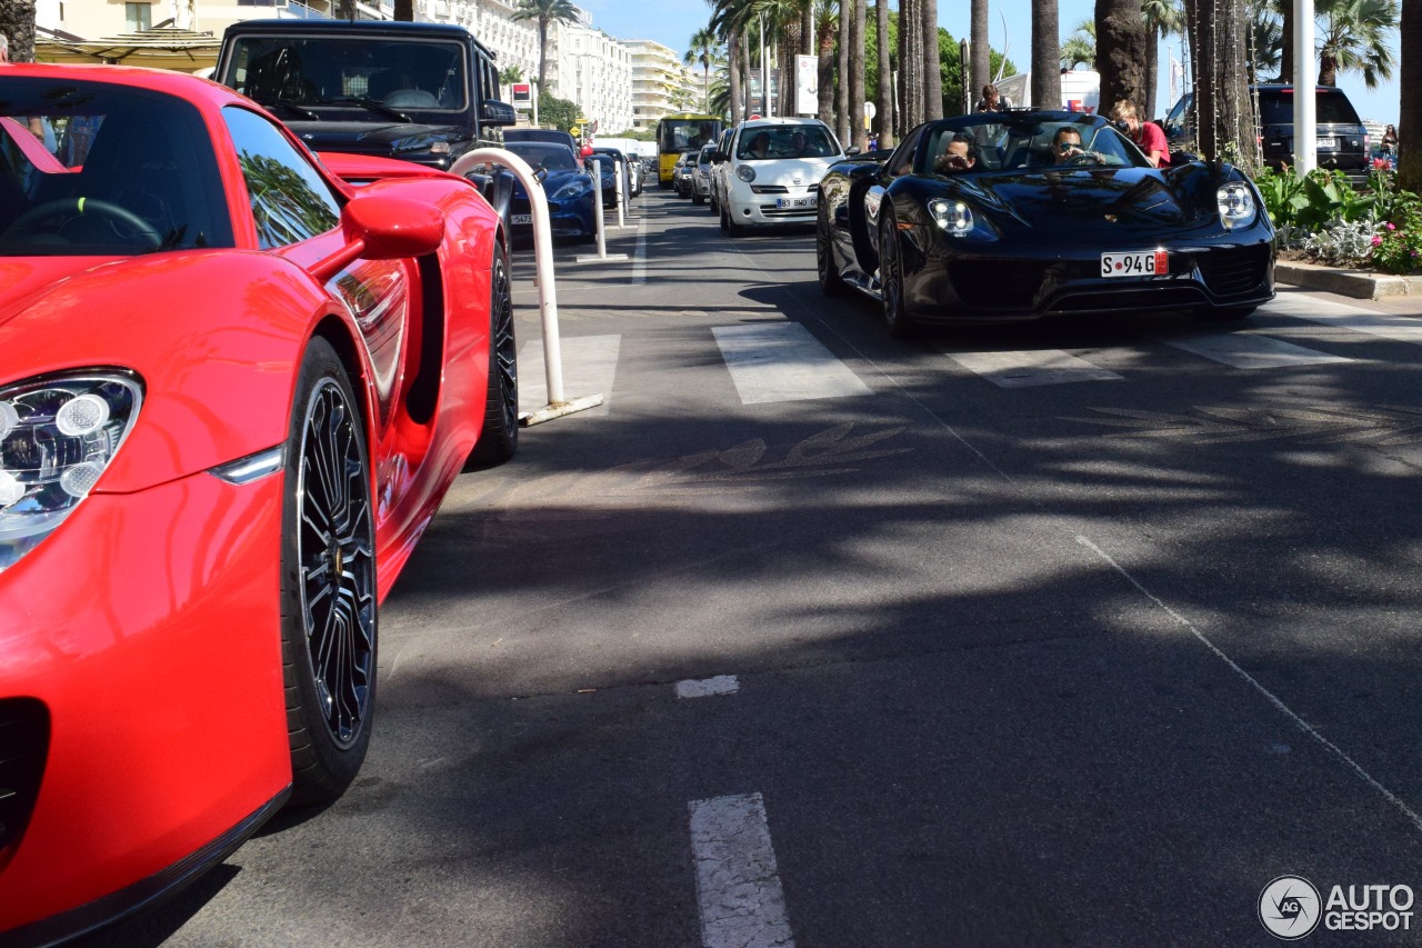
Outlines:
<svg viewBox="0 0 1422 948"><path fill-rule="evenodd" d="M1298 925L1416 894L1422 322L896 342L808 231L636 214L557 252L606 404L454 487L356 786L91 948L1267 945L1276 877Z"/></svg>

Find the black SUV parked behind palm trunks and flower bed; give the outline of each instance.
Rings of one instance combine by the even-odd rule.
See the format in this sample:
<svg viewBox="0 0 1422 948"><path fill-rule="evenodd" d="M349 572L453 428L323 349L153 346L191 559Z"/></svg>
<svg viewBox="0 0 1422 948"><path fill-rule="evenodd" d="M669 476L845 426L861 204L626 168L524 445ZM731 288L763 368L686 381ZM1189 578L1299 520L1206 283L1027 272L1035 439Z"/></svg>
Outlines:
<svg viewBox="0 0 1422 948"><path fill-rule="evenodd" d="M1294 87L1285 84L1256 85L1258 95L1260 144L1264 164L1278 169L1294 164ZM1193 97L1186 93L1160 122L1170 149L1193 151L1194 125L1190 114ZM1368 130L1358 120L1352 102L1341 88L1314 87L1317 108L1317 157L1320 168L1342 171L1351 181L1361 182L1372 169L1368 154Z"/></svg>

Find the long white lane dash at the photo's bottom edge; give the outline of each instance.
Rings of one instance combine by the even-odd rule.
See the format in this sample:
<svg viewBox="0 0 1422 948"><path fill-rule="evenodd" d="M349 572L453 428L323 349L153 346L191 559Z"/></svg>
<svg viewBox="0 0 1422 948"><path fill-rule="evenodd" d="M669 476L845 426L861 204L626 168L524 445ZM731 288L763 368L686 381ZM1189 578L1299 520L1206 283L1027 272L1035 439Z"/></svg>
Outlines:
<svg viewBox="0 0 1422 948"><path fill-rule="evenodd" d="M759 793L694 800L691 854L705 948L793 948Z"/></svg>

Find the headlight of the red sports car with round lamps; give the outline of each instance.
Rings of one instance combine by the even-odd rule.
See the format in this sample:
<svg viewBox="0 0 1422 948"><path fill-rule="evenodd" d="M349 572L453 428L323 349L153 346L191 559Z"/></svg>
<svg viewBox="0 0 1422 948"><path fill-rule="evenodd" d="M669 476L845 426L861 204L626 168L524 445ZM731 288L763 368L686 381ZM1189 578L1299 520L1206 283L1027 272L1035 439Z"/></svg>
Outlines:
<svg viewBox="0 0 1422 948"><path fill-rule="evenodd" d="M0 571L88 497L142 401L138 380L112 370L0 387Z"/></svg>

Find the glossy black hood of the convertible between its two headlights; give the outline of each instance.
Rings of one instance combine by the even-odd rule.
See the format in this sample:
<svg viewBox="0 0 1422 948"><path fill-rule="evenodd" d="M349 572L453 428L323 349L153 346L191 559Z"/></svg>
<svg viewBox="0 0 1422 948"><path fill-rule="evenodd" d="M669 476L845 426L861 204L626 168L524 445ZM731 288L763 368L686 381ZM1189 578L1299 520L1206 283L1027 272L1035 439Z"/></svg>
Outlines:
<svg viewBox="0 0 1422 948"><path fill-rule="evenodd" d="M1203 165L1062 168L948 179L974 209L1007 232L1054 241L1140 228L1187 228L1217 219L1213 175Z"/></svg>

